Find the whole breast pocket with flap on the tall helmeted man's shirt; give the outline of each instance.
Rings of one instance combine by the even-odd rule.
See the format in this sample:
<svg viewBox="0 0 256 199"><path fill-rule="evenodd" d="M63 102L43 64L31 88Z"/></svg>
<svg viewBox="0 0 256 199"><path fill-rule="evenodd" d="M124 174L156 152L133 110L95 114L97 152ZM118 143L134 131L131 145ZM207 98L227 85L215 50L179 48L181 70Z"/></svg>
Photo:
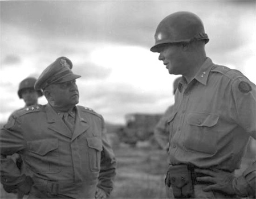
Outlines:
<svg viewBox="0 0 256 199"><path fill-rule="evenodd" d="M189 113L188 129L184 129L186 151L214 155L217 151L217 123L219 116L210 113Z"/></svg>

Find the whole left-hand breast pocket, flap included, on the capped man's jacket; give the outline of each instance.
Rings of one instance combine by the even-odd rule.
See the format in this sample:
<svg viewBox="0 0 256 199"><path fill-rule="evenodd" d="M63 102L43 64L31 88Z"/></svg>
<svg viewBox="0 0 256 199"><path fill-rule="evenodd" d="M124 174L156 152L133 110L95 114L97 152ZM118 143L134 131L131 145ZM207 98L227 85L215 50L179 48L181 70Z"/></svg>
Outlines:
<svg viewBox="0 0 256 199"><path fill-rule="evenodd" d="M58 173L59 152L58 139L42 139L27 142L27 164L36 173Z"/></svg>

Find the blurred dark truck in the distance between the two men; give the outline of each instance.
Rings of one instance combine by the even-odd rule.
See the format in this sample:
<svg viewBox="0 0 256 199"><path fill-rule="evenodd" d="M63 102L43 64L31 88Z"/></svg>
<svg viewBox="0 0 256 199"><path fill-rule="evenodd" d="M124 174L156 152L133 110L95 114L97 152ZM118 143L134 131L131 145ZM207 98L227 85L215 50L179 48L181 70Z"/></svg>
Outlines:
<svg viewBox="0 0 256 199"><path fill-rule="evenodd" d="M152 141L154 128L162 114L132 113L125 115L124 127L119 128L121 142L136 146L138 141Z"/></svg>

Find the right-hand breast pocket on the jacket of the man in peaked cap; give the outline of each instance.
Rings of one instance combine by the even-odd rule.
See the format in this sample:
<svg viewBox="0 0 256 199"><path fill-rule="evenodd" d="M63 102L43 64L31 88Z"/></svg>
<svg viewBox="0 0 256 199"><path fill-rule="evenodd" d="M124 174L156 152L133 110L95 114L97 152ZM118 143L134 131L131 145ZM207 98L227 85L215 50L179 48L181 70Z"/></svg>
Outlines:
<svg viewBox="0 0 256 199"><path fill-rule="evenodd" d="M100 171L100 159L101 151L103 150L103 144L100 138L86 138L88 144L88 155L90 161L91 171Z"/></svg>

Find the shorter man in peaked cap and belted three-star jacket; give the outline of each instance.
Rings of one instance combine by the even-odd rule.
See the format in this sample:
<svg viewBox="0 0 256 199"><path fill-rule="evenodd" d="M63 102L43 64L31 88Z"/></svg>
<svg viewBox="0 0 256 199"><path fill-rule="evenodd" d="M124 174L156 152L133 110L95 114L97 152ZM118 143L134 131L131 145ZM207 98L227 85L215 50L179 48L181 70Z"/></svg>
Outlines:
<svg viewBox="0 0 256 199"><path fill-rule="evenodd" d="M113 189L116 160L104 119L79 102L72 63L59 57L35 83L47 105L29 106L1 130L1 182L29 198L105 198ZM33 176L21 175L6 155L19 153Z"/></svg>

